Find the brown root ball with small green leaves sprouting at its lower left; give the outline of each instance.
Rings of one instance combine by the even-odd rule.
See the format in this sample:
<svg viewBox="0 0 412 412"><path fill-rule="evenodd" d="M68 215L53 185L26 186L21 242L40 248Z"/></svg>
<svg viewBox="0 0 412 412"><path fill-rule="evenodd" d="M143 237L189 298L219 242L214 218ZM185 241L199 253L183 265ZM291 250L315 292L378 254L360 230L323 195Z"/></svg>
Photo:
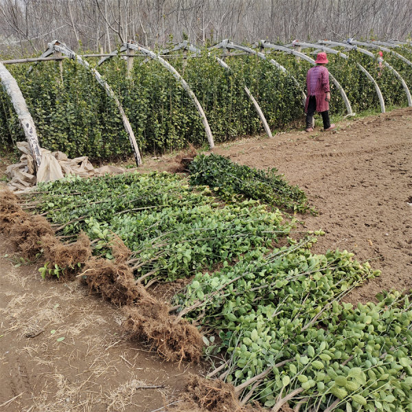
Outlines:
<svg viewBox="0 0 412 412"><path fill-rule="evenodd" d="M75 273L78 263L86 263L91 258L90 240L86 233L81 232L78 240L65 244L56 236L47 234L41 238L45 260L65 268L66 273Z"/></svg>

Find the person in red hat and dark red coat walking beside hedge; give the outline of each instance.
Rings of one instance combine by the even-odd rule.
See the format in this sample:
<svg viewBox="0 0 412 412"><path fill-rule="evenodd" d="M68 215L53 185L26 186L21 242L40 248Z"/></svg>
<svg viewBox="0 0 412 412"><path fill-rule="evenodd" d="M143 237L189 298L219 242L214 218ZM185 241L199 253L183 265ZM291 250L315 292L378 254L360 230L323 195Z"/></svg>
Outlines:
<svg viewBox="0 0 412 412"><path fill-rule="evenodd" d="M313 131L313 115L317 111L321 113L323 119L323 129L333 130L336 126L330 124L329 118L329 102L330 102L330 87L329 87L329 71L325 65L328 63L326 53L318 53L315 60L317 64L308 70L306 75L306 88L308 96L306 97L305 112L306 112L306 131Z"/></svg>

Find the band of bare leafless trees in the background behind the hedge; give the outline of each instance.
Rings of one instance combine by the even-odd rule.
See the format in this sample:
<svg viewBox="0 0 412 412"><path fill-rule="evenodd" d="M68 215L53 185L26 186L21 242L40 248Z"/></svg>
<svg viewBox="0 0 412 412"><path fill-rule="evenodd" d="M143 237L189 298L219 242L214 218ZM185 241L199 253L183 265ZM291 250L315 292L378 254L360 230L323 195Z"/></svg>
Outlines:
<svg viewBox="0 0 412 412"><path fill-rule="evenodd" d="M402 19L400 19L402 16ZM132 38L163 46L170 36L205 44L223 38L405 38L410 0L0 0L0 50L39 52L52 38L111 52Z"/></svg>

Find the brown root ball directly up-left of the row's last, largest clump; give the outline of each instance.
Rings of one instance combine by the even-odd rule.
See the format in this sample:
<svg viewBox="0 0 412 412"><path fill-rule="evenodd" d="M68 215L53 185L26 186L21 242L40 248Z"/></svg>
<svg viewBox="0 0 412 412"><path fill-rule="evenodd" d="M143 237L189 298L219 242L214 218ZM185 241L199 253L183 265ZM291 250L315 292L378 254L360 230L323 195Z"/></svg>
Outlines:
<svg viewBox="0 0 412 412"><path fill-rule="evenodd" d="M147 297L146 289L135 284L133 272L126 264L92 258L84 266L85 282L93 292L101 293L116 305L130 305Z"/></svg>

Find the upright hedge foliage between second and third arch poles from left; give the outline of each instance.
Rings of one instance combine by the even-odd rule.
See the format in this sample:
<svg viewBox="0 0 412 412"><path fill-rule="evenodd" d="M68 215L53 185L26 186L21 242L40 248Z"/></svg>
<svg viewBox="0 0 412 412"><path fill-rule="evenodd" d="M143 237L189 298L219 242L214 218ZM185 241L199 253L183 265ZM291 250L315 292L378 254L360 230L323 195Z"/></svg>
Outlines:
<svg viewBox="0 0 412 412"><path fill-rule="evenodd" d="M133 80L124 60L113 58L99 67L119 96L139 147L146 152L201 145L205 130L189 95L159 62L135 58Z"/></svg>

